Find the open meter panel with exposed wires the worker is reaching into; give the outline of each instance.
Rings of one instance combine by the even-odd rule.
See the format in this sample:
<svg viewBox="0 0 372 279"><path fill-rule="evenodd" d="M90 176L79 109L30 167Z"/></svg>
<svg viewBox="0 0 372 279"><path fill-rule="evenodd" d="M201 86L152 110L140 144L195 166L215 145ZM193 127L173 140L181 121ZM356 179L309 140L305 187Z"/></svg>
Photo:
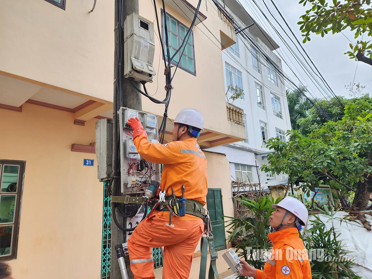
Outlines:
<svg viewBox="0 0 372 279"><path fill-rule="evenodd" d="M144 182L160 180L160 166L141 158L133 142L133 130L128 119L138 118L146 129L148 141L158 143L158 116L134 109L119 109L120 161L122 193L137 193Z"/></svg>

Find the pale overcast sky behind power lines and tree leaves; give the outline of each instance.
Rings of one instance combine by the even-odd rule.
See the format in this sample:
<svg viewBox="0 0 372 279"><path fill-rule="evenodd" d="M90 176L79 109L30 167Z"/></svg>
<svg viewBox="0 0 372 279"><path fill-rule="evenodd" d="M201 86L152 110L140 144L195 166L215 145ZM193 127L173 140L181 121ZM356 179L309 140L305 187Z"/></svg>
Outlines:
<svg viewBox="0 0 372 279"><path fill-rule="evenodd" d="M257 0L257 3L260 5L261 9L266 14L266 16L274 24L276 29L286 39L289 45L292 46L292 43L289 41L288 37L286 37L285 33L280 29L275 20L272 19L262 1L265 1L271 12L276 16L276 19L278 19L278 21L282 23L283 28L285 28L285 30L288 32L291 38L294 39L291 33L288 31L288 28L285 26L285 23L280 18L280 15L278 14L278 12L276 12L276 9L271 3L271 1ZM269 23L267 22L266 19L264 19L259 10L257 10L257 7L254 6L253 2L251 0L246 1L240 0L240 2L244 6L246 6L248 13L252 15L258 23L264 22L266 24L265 25L261 23L262 28L264 28L266 32L269 33L269 35L272 36L274 40L280 45L281 51L285 52L284 57L288 55L289 58L294 63L296 63L293 56L289 53L289 51L283 45L283 42L280 41L279 37L275 34L275 32L273 32L271 28L267 27L270 26ZM349 91L348 89L345 88L345 85L349 85L350 83L352 83L354 79L355 70L357 67L354 83L359 82L361 85L366 86L364 92L367 92L370 94L370 96L372 96L372 66L365 64L363 62L357 63L355 60L349 59L347 55L343 54L344 52L350 50L349 47L350 42L348 39L350 39L350 41L352 41L353 43L356 42L356 39L354 39L353 32L346 30L343 31L344 35L348 39L345 38L345 36L342 35L341 33L332 35L330 32L328 33L328 35L325 35L324 38L321 38L320 35L311 34L311 41L307 42L306 44L302 44L303 37L301 36L301 32L299 31L299 25L297 25L297 22L299 21L299 16L304 14L305 10L308 9L308 6L304 7L302 6L302 4L298 4L298 0L275 0L275 4L282 13L282 15L284 16L285 20L288 22L292 31L295 33L301 45L307 51L308 55L310 56L314 64L318 67L320 73L323 75L323 77L328 82L333 92L336 93L336 95L349 97ZM250 7L248 7L247 5L249 5ZM366 35L364 39L366 39ZM367 41L370 39L372 38L368 38ZM275 51L275 53L278 55L278 52ZM301 59L303 60L302 57ZM289 63L289 65L291 65L291 62L288 61L288 59L287 62ZM291 77L295 83L298 84L299 82L294 76L294 74L291 72L291 70L285 65L283 61L282 64L285 73L289 77ZM295 66L298 68L298 71L295 70L298 76L299 74L302 74L303 76L303 78L299 76L301 81L305 85L309 85L312 92L314 92L315 96L323 97L322 94L318 91L318 87L315 87L315 85L305 75L304 71L301 70L301 67L298 64L295 64Z"/></svg>

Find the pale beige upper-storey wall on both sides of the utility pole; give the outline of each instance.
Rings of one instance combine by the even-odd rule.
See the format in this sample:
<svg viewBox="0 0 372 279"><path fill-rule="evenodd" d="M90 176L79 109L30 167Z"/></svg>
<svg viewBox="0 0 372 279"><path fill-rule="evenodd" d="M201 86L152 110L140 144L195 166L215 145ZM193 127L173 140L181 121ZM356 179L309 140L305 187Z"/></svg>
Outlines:
<svg viewBox="0 0 372 279"><path fill-rule="evenodd" d="M140 15L155 21L154 7L139 1ZM196 0L190 0L195 5ZM200 7L207 19L193 28L196 76L179 68L172 82L168 116L174 119L182 108L195 108L204 116L205 128L237 139L244 129L227 119L222 66L221 35L226 23L216 7ZM161 1L157 1L161 18ZM113 101L114 2L67 1L62 10L44 0L2 1L0 9L0 74L25 79L71 94ZM169 6L167 13L185 26L190 20ZM155 22L155 33L157 33ZM231 31L231 30L230 30ZM217 38L217 39L216 39ZM234 36L235 39L235 36ZM160 41L155 38L154 68L157 75L147 88L154 97L165 98L164 63ZM22 65L22 66L20 66ZM172 68L174 69L174 67ZM32 94L31 94L32 96ZM0 96L1 97L1 96ZM0 98L0 103L1 98ZM163 116L164 106L142 98L142 109Z"/></svg>

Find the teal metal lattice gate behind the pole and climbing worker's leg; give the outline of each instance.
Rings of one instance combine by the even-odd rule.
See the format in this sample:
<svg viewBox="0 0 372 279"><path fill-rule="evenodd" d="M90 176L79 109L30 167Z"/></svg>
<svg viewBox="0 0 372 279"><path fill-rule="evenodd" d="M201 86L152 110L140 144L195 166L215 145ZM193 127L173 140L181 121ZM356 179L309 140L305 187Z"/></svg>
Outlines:
<svg viewBox="0 0 372 279"><path fill-rule="evenodd" d="M109 182L103 187L103 218L102 218L102 260L101 279L110 279L111 268L111 206L110 197L106 196L106 189ZM150 208L148 209L150 212ZM163 256L160 248L153 248L154 269L163 266Z"/></svg>

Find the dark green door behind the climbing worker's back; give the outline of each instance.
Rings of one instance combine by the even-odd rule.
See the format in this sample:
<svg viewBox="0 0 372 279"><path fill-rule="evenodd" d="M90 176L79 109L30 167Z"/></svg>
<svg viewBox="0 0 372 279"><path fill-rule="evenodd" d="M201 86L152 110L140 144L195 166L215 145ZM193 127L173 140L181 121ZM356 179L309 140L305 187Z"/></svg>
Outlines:
<svg viewBox="0 0 372 279"><path fill-rule="evenodd" d="M215 248L217 251L226 249L221 188L208 189L207 209L209 211L209 218L211 218Z"/></svg>

